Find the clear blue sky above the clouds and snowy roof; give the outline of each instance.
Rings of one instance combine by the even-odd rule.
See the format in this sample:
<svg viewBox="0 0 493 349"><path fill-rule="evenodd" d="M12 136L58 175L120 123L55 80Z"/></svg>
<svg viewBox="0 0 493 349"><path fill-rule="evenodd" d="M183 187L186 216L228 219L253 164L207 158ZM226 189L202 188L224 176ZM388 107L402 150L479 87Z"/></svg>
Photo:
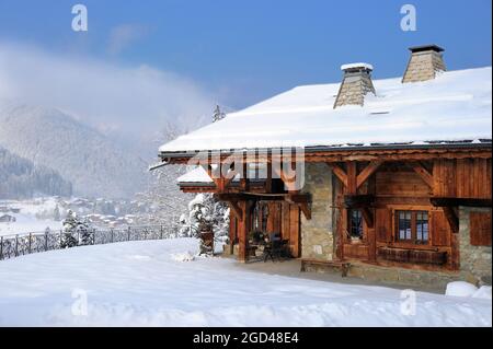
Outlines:
<svg viewBox="0 0 493 349"><path fill-rule="evenodd" d="M71 7L89 32L71 31ZM417 10L402 32L401 5ZM491 1L0 0L0 43L118 66L148 65L195 81L234 108L295 85L335 82L342 63L401 75L406 48L436 43L448 69L491 65Z"/></svg>

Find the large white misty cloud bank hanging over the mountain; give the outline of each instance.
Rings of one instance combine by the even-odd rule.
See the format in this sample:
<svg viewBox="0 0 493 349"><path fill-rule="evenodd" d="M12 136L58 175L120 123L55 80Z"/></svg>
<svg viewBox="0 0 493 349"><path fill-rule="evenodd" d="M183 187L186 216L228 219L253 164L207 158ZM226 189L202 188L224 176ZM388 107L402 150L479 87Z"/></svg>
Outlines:
<svg viewBox="0 0 493 349"><path fill-rule="evenodd" d="M156 138L170 123L195 128L214 107L198 83L173 72L1 43L0 98L58 107L123 139Z"/></svg>

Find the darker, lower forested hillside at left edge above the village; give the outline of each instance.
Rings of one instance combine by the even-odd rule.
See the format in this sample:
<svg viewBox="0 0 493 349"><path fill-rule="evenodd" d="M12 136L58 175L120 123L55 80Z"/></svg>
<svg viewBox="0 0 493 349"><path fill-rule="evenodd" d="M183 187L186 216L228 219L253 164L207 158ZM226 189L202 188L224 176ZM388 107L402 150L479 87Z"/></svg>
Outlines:
<svg viewBox="0 0 493 349"><path fill-rule="evenodd" d="M71 194L72 184L65 181L56 171L35 165L0 147L0 199Z"/></svg>

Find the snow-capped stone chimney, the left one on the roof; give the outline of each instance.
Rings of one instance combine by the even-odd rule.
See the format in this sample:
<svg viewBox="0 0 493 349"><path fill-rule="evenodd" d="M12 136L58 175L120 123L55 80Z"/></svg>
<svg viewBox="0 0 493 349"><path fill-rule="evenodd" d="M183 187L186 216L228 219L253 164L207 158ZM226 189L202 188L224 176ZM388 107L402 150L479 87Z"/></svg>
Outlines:
<svg viewBox="0 0 493 349"><path fill-rule="evenodd" d="M335 98L334 108L343 105L363 106L367 93L376 94L371 82L374 67L367 63L353 63L342 66L341 70L344 71L344 77Z"/></svg>

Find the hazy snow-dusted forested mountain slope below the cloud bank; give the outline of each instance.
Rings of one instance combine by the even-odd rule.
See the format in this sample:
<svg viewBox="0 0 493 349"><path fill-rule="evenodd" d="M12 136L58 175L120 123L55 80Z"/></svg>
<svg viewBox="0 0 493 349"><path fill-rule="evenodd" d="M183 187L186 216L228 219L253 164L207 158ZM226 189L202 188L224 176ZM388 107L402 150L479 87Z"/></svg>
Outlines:
<svg viewBox="0 0 493 349"><path fill-rule="evenodd" d="M150 178L131 150L56 108L1 102L0 146L53 168L78 196L130 198Z"/></svg>

